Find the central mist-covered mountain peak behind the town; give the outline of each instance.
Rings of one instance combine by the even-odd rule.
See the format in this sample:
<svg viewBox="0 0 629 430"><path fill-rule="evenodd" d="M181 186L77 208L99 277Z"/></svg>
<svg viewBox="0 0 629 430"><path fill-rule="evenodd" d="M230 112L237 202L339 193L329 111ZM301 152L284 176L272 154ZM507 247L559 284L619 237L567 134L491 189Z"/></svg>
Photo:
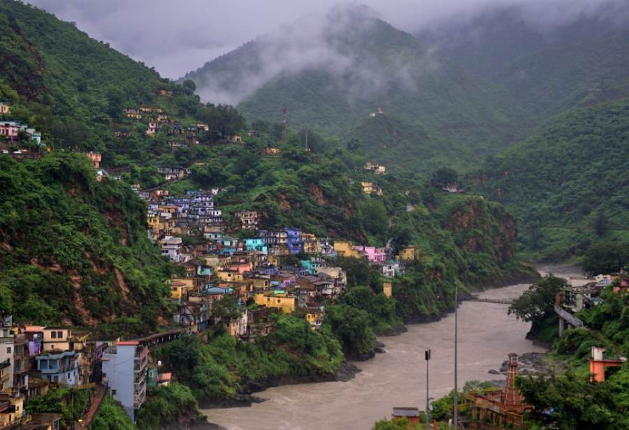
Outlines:
<svg viewBox="0 0 629 430"><path fill-rule="evenodd" d="M382 107L433 135L490 154L523 135L514 100L365 8L335 8L262 36L186 75L206 101L247 119L347 135Z"/></svg>

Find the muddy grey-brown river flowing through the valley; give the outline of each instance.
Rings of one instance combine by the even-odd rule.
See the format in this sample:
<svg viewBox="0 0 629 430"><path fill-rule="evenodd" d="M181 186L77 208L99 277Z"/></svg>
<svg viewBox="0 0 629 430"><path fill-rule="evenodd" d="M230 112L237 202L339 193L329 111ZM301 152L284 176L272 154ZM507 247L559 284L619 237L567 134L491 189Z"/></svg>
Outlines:
<svg viewBox="0 0 629 430"><path fill-rule="evenodd" d="M549 267L540 267L543 274ZM561 276L572 271L553 268ZM562 270L563 269L563 270ZM480 297L513 299L529 284L493 288ZM308 383L273 387L256 395L267 399L247 408L210 409L210 422L229 430L371 429L391 416L393 406L426 405L424 350L432 350L431 397L454 388L454 313L436 323L408 325L408 332L386 336L386 353L356 362L362 372L349 382ZM507 315L504 304L463 302L458 309L458 381L502 379L490 375L509 353L544 352L524 339L528 323Z"/></svg>

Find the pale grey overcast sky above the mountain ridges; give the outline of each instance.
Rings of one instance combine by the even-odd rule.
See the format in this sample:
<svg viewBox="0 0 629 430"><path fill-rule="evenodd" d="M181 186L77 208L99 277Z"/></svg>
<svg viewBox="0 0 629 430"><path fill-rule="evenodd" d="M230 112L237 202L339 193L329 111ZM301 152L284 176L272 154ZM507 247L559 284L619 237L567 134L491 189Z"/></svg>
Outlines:
<svg viewBox="0 0 629 430"><path fill-rule="evenodd" d="M537 3L532 19L555 22L589 12L604 0L362 0L380 17L414 32L453 15L496 5ZM97 40L181 77L210 59L298 16L317 16L347 0L28 0ZM549 4L553 3L553 4Z"/></svg>

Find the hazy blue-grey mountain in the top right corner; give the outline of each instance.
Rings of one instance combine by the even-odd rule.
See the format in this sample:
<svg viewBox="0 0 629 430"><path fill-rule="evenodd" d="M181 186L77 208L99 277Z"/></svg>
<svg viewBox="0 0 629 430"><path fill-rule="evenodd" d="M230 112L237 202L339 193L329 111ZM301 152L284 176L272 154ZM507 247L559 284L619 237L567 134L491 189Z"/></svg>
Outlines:
<svg viewBox="0 0 629 430"><path fill-rule="evenodd" d="M522 6L451 20L417 37L465 71L500 84L535 124L629 76L629 5L542 22Z"/></svg>

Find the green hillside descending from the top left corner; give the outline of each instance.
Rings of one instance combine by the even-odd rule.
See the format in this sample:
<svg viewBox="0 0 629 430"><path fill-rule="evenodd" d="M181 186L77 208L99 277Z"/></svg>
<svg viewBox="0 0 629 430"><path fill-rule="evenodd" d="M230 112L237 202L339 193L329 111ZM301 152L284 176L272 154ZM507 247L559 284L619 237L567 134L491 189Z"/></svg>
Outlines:
<svg viewBox="0 0 629 430"><path fill-rule="evenodd" d="M172 94L158 96L157 89ZM129 119L124 107L158 107L183 126L212 119L219 129L224 122L191 89L13 0L0 2L0 101L11 105L3 119L42 131L48 147L100 151L106 167L146 163L168 152L165 132L153 139L145 133L154 114ZM115 131L126 137L115 138Z"/></svg>

